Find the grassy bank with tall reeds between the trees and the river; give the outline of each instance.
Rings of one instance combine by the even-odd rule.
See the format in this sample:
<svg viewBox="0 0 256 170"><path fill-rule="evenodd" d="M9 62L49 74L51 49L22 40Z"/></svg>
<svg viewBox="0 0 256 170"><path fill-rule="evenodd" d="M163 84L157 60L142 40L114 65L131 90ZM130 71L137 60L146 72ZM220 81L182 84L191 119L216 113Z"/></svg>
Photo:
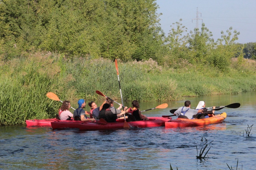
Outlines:
<svg viewBox="0 0 256 170"><path fill-rule="evenodd" d="M240 63L239 63L240 62ZM196 69L187 63L167 68L153 60L118 61L123 99L131 101L181 100L185 96L236 94L256 89L255 61L233 60L229 73L214 68ZM61 54L37 53L0 62L0 125L25 124L26 119L52 118L61 103L48 99L54 92L60 100L100 100L100 90L120 99L114 62L108 59L65 58Z"/></svg>

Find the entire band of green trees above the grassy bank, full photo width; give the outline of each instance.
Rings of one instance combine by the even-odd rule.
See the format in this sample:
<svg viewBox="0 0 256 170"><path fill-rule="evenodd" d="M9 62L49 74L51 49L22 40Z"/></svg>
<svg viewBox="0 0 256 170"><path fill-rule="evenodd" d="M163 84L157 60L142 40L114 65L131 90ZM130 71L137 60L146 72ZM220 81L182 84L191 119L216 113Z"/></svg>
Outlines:
<svg viewBox="0 0 256 170"><path fill-rule="evenodd" d="M51 51L66 57L148 60L175 68L182 61L229 71L232 57L256 59L256 43L236 44L230 27L214 41L202 24L184 34L182 20L168 36L155 0L0 0L0 58Z"/></svg>

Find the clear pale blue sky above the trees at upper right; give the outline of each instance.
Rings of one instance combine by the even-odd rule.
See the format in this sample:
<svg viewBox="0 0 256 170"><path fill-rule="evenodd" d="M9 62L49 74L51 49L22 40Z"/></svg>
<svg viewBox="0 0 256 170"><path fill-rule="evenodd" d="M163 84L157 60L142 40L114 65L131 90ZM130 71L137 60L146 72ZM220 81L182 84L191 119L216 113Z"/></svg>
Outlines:
<svg viewBox="0 0 256 170"><path fill-rule="evenodd" d="M156 3L166 36L172 23L180 19L188 32L194 30L198 7L198 18L202 19L198 20L199 28L203 22L215 41L221 38L221 31L226 33L232 27L240 32L236 43L256 42L256 0L156 0Z"/></svg>

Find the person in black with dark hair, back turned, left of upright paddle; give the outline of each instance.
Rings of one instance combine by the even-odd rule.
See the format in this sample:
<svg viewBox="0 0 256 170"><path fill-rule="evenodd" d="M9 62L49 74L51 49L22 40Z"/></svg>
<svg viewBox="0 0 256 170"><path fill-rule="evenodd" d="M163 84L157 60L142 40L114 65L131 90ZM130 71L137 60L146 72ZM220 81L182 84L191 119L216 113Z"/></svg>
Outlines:
<svg viewBox="0 0 256 170"><path fill-rule="evenodd" d="M101 109L97 119L103 118L107 122L112 123L112 122L116 122L116 119L124 114L125 114L125 112L122 112L120 114L113 114L113 112L111 112L111 110L110 110L110 104L105 103L105 104L103 104L102 109Z"/></svg>

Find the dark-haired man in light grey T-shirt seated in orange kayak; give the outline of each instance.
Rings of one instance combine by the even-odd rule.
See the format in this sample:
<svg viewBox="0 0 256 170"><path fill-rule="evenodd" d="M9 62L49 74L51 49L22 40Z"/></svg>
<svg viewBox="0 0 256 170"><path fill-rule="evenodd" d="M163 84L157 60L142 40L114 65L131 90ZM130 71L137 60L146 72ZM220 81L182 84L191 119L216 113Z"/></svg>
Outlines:
<svg viewBox="0 0 256 170"><path fill-rule="evenodd" d="M185 106L178 108L175 112L174 115L180 115L178 118L187 118L187 119L194 119L193 116L202 113L202 109L195 110L195 109L190 109L190 101L185 101L184 103Z"/></svg>

